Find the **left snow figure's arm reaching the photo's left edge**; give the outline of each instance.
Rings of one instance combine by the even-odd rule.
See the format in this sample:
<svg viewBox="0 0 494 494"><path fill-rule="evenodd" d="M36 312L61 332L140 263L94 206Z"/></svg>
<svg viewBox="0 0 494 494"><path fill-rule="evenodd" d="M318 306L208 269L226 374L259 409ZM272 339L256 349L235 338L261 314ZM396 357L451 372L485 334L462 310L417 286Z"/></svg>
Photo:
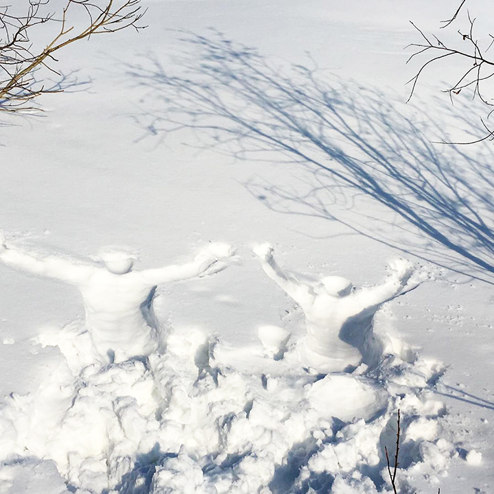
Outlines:
<svg viewBox="0 0 494 494"><path fill-rule="evenodd" d="M93 273L91 266L78 266L54 255L38 258L15 247L6 246L1 232L0 261L12 268L74 284L81 283Z"/></svg>

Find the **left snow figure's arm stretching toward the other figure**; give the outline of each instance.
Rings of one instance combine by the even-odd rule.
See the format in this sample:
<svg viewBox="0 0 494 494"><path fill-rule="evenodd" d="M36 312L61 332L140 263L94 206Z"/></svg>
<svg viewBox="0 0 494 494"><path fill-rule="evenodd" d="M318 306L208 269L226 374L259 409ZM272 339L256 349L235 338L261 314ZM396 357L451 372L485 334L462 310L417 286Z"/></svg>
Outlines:
<svg viewBox="0 0 494 494"><path fill-rule="evenodd" d="M160 283L169 283L170 281L180 281L204 274L212 274L216 270L209 270L213 264L220 259L231 257L235 253L232 246L222 244L209 244L202 250L196 258L185 264L174 264L164 268L154 268L141 271L139 274L149 285L159 285Z"/></svg>

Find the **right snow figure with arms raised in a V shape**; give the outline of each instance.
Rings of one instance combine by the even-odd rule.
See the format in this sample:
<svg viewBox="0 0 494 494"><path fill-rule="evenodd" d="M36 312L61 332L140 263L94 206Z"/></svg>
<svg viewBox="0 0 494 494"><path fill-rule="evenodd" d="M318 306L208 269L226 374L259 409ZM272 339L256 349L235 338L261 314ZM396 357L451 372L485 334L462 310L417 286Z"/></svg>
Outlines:
<svg viewBox="0 0 494 494"><path fill-rule="evenodd" d="M412 282L412 263L390 263L390 276L382 285L354 291L342 277L320 279L316 286L303 283L281 270L270 244L254 248L263 270L298 303L305 314L307 334L298 344L301 362L311 373L353 372L361 364L375 366L382 344L373 334L379 307L419 284Z"/></svg>

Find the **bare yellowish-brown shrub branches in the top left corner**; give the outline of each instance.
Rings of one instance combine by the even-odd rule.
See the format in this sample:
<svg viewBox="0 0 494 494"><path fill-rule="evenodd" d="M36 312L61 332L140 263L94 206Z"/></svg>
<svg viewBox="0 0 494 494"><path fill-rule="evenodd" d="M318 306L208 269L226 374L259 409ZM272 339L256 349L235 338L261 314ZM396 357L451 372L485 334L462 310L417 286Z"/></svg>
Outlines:
<svg viewBox="0 0 494 494"><path fill-rule="evenodd" d="M28 102L45 93L63 91L58 85L47 87L35 78L36 71L47 69L56 75L54 54L75 41L94 34L117 32L127 27L141 30L145 10L141 0L67 0L56 16L48 12L50 0L29 0L25 12L12 12L12 5L0 6L0 111L33 110ZM71 19L75 10L84 10L87 22L76 28ZM75 12L74 12L75 13ZM40 25L58 25L45 47L36 47L31 39ZM47 32L50 32L47 29Z"/></svg>

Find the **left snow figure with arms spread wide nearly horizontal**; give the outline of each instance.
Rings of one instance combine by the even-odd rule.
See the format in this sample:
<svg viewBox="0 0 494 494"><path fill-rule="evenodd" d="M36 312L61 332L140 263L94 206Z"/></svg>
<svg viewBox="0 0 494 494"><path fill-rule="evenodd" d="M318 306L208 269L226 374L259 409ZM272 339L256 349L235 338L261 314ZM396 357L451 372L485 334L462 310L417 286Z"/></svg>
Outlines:
<svg viewBox="0 0 494 494"><path fill-rule="evenodd" d="M159 338L152 301L156 285L217 272L219 259L233 255L227 244L210 244L193 261L176 266L132 271L134 257L112 249L99 254L105 267L83 265L55 255L36 257L5 246L0 233L0 260L32 274L65 281L79 288L86 328L104 363L147 356L158 350ZM221 267L221 266L220 266Z"/></svg>

